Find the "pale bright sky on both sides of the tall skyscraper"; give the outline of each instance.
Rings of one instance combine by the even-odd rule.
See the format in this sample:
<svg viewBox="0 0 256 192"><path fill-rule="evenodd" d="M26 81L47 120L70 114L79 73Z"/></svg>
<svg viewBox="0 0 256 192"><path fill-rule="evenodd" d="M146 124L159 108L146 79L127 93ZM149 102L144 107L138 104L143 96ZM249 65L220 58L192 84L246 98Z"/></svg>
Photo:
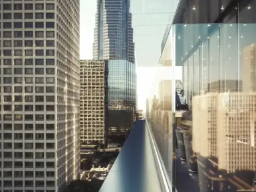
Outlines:
<svg viewBox="0 0 256 192"><path fill-rule="evenodd" d="M80 59L92 59L97 0L80 1ZM158 64L166 24L172 11L170 0L131 0L132 26L138 74L138 107L156 95L158 82L171 79L172 70Z"/></svg>

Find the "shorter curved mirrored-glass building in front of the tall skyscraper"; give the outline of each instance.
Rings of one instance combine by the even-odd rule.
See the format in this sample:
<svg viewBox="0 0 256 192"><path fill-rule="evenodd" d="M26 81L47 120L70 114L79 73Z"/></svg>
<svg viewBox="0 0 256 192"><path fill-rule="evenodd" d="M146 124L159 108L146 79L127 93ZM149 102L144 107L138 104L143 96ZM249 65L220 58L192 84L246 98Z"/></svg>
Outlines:
<svg viewBox="0 0 256 192"><path fill-rule="evenodd" d="M136 113L135 64L108 62L108 136L126 136Z"/></svg>

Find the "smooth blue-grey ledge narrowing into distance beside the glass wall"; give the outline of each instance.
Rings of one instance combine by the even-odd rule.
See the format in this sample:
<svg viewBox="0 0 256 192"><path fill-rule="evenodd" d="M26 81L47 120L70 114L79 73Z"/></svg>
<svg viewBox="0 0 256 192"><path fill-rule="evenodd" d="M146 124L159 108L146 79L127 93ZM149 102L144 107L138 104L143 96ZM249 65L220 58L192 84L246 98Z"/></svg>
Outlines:
<svg viewBox="0 0 256 192"><path fill-rule="evenodd" d="M160 192L146 120L137 120L100 192Z"/></svg>

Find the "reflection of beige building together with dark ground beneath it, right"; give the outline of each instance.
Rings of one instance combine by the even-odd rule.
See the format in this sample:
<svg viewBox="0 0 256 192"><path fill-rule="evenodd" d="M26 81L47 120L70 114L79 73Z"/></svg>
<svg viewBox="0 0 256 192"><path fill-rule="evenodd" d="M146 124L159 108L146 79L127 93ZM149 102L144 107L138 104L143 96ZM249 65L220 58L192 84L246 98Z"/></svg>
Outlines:
<svg viewBox="0 0 256 192"><path fill-rule="evenodd" d="M251 189L256 170L255 105L256 93L193 97L193 150L201 179L214 180L225 191Z"/></svg>

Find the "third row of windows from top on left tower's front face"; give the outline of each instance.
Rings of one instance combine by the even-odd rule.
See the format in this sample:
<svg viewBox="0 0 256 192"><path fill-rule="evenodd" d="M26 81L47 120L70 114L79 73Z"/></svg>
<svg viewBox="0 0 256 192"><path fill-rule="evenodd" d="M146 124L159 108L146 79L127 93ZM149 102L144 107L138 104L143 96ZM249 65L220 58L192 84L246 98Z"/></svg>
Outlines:
<svg viewBox="0 0 256 192"><path fill-rule="evenodd" d="M0 25L1 26L1 25ZM23 22L3 22L3 28L55 28L54 22L35 22L35 26L33 22L25 22L23 26Z"/></svg>

